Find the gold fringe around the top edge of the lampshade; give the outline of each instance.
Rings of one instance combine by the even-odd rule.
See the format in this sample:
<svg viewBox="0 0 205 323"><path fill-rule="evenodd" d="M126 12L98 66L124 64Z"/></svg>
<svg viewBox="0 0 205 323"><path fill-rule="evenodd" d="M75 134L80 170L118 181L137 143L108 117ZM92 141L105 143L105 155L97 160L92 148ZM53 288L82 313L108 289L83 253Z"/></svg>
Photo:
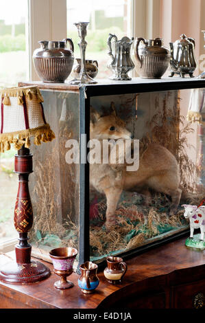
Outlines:
<svg viewBox="0 0 205 323"><path fill-rule="evenodd" d="M9 89L0 90L1 98L3 98L4 105L10 105L10 96L18 98L18 104L23 104L23 95L27 96L29 100L32 100L33 96L36 96L38 102L43 102L43 96L40 93L40 89L36 86L32 87L10 87Z"/></svg>

